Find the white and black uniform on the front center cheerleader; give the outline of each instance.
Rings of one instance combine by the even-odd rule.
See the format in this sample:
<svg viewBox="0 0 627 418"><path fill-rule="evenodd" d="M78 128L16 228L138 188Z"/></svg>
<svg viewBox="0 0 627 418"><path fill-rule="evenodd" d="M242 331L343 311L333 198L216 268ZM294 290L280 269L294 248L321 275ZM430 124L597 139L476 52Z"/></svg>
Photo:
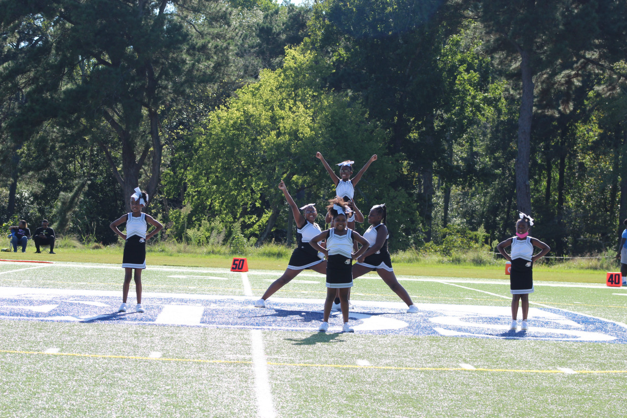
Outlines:
<svg viewBox="0 0 627 418"><path fill-rule="evenodd" d="M352 286L352 230L347 228L345 235L335 235L335 228L327 235L327 287L341 288Z"/></svg>

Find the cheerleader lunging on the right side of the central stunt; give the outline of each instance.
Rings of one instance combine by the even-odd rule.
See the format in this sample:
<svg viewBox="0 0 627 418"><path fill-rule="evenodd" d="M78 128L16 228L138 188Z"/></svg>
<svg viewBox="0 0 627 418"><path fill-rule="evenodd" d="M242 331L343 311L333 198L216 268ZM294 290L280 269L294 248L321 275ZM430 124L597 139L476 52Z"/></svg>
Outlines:
<svg viewBox="0 0 627 418"><path fill-rule="evenodd" d="M374 205L368 213L368 223L370 227L364 233L364 238L368 241L368 249L357 259L353 265L352 274L356 279L367 272L376 271L379 277L389 286L394 293L407 304L407 313L417 313L418 307L414 305L409 297L409 293L396 279L389 250L387 250L386 205Z"/></svg>

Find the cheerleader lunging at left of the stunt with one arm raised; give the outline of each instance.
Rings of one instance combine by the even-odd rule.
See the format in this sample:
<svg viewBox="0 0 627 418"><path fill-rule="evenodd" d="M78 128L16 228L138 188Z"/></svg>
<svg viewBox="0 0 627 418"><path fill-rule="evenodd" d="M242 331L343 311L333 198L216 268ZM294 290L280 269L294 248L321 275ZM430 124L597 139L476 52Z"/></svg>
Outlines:
<svg viewBox="0 0 627 418"><path fill-rule="evenodd" d="M296 203L292 199L292 196L290 196L290 193L287 191L287 187L285 187L285 183L283 183L283 181L278 183L278 188L283 191L285 200L287 200L288 205L292 208L292 215L294 216L294 220L296 221L296 226L298 228L298 247L293 250L292 257L290 257L290 261L287 265L285 273L283 273L283 276L275 280L270 287L268 287L268 290L266 290L263 296L261 296L261 299L255 302L255 306L257 308L265 308L268 297L272 296L278 291L278 289L285 286L285 284L290 282L294 277L298 276L298 274L304 269L312 269L313 271L317 271L322 274L327 271L327 262L322 259L324 256L314 250L311 245L308 245L310 240L321 231L318 224L315 223L315 218L318 216L318 212L315 210L314 203L309 203L308 205L300 208L300 210L303 211L301 214L298 206L296 206Z"/></svg>

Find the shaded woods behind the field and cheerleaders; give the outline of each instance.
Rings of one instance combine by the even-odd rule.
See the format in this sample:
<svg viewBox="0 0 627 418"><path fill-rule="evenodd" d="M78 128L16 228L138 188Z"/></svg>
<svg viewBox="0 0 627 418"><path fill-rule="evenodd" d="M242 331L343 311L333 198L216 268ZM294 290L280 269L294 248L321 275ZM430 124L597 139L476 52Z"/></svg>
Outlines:
<svg viewBox="0 0 627 418"><path fill-rule="evenodd" d="M291 244L277 185L322 208L320 151L378 154L356 201L393 250L492 245L517 210L557 255L614 248L627 9L535 3L2 2L2 223L107 244L139 184L162 239Z"/></svg>

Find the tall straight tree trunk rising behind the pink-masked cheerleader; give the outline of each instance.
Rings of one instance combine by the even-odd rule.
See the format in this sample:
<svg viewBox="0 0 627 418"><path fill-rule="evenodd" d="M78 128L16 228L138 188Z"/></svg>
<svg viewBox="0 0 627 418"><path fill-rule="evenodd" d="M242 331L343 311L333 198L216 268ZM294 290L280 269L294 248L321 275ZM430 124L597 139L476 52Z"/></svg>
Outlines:
<svg viewBox="0 0 627 418"><path fill-rule="evenodd" d="M534 80L531 68L531 51L520 51L520 73L522 77L522 97L518 118L518 154L516 157L516 203L520 212L531 213L531 192L529 188L529 158L531 154L531 122L534 113Z"/></svg>

